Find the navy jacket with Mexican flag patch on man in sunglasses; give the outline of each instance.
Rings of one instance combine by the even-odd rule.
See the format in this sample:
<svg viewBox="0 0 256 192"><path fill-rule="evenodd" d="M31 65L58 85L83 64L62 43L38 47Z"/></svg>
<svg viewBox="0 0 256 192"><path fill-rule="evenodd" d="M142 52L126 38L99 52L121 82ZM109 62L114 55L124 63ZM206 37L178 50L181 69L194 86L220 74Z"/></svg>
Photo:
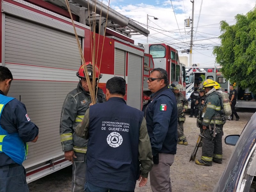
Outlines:
<svg viewBox="0 0 256 192"><path fill-rule="evenodd" d="M150 97L142 111L147 121L152 154L176 154L178 110L174 93L165 86Z"/></svg>

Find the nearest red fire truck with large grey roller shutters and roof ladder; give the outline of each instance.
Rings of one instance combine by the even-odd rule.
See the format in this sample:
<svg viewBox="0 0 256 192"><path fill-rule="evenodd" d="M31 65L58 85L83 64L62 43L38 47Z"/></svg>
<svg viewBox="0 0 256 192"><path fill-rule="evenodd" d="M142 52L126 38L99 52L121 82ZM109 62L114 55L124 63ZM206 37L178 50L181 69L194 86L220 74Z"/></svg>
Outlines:
<svg viewBox="0 0 256 192"><path fill-rule="evenodd" d="M94 14L93 4L85 0L68 2L85 61L91 61L92 31L89 25ZM0 65L8 67L14 77L8 96L23 102L29 117L39 127L39 139L36 143L28 143L28 158L23 163L27 181L31 182L71 164L65 160L60 145L60 111L67 93L76 88L79 81L76 71L81 65L81 58L63 1L2 0L0 8ZM128 37L137 34L147 36L149 31L112 9L107 13L107 8L105 5L98 7L96 12L100 14L102 10L102 16L96 15L97 26L101 26L96 28L99 33L96 45L99 41L100 48L98 63L104 26L108 27L99 86L105 91L109 78L124 77L127 104L141 109L143 77L149 76L154 64L152 57L145 55L144 48L135 45ZM108 20L104 19L107 14ZM145 91L148 90L145 88Z"/></svg>

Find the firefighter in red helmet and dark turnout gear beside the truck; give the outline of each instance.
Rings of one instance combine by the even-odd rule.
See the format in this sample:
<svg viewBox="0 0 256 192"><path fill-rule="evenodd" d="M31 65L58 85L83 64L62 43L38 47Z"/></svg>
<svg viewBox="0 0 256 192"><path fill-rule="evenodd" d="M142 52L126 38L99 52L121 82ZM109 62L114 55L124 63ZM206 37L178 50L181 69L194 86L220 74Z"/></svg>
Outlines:
<svg viewBox="0 0 256 192"><path fill-rule="evenodd" d="M92 65L90 62L86 63L86 68L92 85ZM99 76L99 70L95 66L96 81ZM86 150L88 140L78 137L74 128L82 122L85 111L92 103L89 93L88 82L86 81L83 65L76 73L80 81L77 88L69 92L63 103L60 118L60 138L62 150L64 151L65 158L73 163L73 178L72 178L72 192L84 191L84 183L86 181ZM99 78L102 75L100 74ZM97 83L95 84L97 87ZM95 91L96 93L96 91ZM105 101L105 94L102 89L98 89L97 103Z"/></svg>

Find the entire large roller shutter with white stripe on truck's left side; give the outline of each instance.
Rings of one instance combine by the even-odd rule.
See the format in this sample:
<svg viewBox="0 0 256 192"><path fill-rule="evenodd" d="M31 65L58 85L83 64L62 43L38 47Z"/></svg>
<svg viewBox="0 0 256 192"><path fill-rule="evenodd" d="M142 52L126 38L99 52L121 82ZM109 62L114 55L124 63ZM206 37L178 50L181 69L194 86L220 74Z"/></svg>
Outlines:
<svg viewBox="0 0 256 192"><path fill-rule="evenodd" d="M7 14L4 28L5 66L14 77L8 96L19 99L21 95L30 119L40 129L40 139L29 143L23 164L27 168L63 155L60 111L67 93L77 86L81 59L72 34Z"/></svg>

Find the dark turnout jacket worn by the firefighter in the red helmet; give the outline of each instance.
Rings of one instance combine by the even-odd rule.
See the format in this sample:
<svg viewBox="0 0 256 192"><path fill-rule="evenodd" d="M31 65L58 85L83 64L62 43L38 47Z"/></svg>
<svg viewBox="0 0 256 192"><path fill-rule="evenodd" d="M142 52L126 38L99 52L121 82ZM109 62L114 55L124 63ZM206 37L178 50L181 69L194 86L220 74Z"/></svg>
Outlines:
<svg viewBox="0 0 256 192"><path fill-rule="evenodd" d="M104 101L103 91L99 88L97 102ZM98 98L99 97L99 98ZM92 102L89 93L85 92L81 82L77 88L69 92L63 103L60 117L60 138L63 151L74 150L78 153L86 153L88 140L78 137L74 128L82 122L85 111Z"/></svg>

